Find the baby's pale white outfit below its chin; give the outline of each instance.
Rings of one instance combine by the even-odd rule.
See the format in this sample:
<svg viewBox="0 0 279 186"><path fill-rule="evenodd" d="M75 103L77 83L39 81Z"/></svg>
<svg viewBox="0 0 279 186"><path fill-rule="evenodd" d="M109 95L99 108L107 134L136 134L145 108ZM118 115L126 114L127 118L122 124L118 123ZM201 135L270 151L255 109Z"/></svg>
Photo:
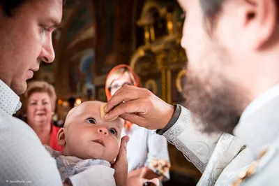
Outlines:
<svg viewBox="0 0 279 186"><path fill-rule="evenodd" d="M83 176L78 185L88 183L91 185L107 185L116 186L114 180L114 169L110 167L110 162L103 159L80 159L73 156L63 156L59 151L55 151L50 146L44 145L47 152L56 160L60 176L63 182L67 182L68 178L71 180L72 176L78 175L88 169L98 168L98 171L88 177ZM94 179L92 179L92 177ZM76 180L73 179L74 182ZM75 183L77 184L77 183Z"/></svg>

